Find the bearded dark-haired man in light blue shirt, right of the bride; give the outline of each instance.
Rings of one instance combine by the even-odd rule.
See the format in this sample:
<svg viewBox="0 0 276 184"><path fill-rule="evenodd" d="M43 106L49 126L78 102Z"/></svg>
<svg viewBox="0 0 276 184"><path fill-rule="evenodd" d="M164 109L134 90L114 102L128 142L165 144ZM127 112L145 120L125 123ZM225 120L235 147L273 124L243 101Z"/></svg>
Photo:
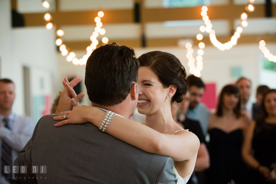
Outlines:
<svg viewBox="0 0 276 184"><path fill-rule="evenodd" d="M210 112L203 103L200 103L205 91L205 85L199 77L194 75L187 77L187 80L189 82L190 105L186 116L189 119L198 121L203 135L206 136Z"/></svg>

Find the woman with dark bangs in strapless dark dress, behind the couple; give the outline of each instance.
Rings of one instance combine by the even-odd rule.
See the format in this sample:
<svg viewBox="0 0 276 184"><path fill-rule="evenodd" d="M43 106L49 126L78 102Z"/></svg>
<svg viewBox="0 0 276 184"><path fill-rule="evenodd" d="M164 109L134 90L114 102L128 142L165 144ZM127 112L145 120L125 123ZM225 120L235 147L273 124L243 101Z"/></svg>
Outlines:
<svg viewBox="0 0 276 184"><path fill-rule="evenodd" d="M212 184L245 183L241 146L246 123L241 117L239 89L224 86L216 113L210 115L210 177Z"/></svg>

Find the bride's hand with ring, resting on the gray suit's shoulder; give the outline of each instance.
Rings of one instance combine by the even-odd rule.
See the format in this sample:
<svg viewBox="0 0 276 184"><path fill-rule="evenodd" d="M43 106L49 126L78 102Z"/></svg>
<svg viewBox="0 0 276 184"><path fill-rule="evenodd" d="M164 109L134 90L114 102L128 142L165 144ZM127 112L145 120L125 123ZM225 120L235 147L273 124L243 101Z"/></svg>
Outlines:
<svg viewBox="0 0 276 184"><path fill-rule="evenodd" d="M55 124L55 126L62 126L66 124L83 124L88 122L86 116L91 112L91 106L81 105L73 107L72 111L64 111L60 116L53 117L55 120L62 120Z"/></svg>

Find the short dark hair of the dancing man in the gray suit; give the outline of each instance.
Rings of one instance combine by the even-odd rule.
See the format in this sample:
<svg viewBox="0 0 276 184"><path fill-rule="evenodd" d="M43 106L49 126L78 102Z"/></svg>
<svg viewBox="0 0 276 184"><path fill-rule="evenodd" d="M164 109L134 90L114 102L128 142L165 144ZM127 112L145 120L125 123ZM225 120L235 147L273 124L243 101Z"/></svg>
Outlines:
<svg viewBox="0 0 276 184"><path fill-rule="evenodd" d="M139 62L132 48L112 43L95 49L85 68L89 100L104 106L122 103L133 82L137 83L138 68Z"/></svg>

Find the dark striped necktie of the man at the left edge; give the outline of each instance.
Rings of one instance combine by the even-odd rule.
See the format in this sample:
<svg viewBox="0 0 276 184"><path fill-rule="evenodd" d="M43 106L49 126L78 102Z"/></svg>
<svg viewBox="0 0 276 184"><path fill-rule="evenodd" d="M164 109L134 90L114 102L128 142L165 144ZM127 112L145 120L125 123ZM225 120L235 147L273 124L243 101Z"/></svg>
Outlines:
<svg viewBox="0 0 276 184"><path fill-rule="evenodd" d="M8 127L8 119L3 119L4 126L6 128ZM11 147L8 145L8 143L2 139L2 145L1 145L1 167L2 167L2 174L4 176L8 176L12 178L11 172L9 174L4 173L4 166L12 166L13 163L11 161Z"/></svg>

